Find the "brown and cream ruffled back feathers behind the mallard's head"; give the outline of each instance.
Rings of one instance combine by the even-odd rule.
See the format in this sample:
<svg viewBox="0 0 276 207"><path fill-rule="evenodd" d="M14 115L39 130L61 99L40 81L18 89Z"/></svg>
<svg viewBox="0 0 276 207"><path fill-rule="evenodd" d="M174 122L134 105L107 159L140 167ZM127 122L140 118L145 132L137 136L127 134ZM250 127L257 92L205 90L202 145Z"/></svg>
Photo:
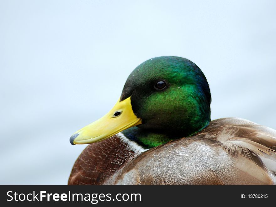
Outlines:
<svg viewBox="0 0 276 207"><path fill-rule="evenodd" d="M276 172L275 130L244 119L223 118L211 122L202 134L230 154L243 155L260 167Z"/></svg>

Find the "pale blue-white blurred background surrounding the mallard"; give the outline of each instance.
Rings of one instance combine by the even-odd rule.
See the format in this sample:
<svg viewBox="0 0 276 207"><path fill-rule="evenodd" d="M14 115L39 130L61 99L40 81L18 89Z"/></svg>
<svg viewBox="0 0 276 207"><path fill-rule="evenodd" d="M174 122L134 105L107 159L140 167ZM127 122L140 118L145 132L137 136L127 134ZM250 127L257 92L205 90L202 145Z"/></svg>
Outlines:
<svg viewBox="0 0 276 207"><path fill-rule="evenodd" d="M276 129L276 1L0 1L0 184L67 184L136 66L181 56L204 72L211 118Z"/></svg>

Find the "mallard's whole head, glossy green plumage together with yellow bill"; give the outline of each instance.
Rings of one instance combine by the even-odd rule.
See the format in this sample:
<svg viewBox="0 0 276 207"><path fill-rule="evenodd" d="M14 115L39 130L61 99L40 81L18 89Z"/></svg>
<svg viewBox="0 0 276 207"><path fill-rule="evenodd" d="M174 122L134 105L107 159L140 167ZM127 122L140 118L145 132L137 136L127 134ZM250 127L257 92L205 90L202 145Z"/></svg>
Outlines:
<svg viewBox="0 0 276 207"><path fill-rule="evenodd" d="M175 56L152 58L132 71L115 106L75 132L70 142L99 142L135 126L187 137L209 124L210 102L208 82L197 65Z"/></svg>

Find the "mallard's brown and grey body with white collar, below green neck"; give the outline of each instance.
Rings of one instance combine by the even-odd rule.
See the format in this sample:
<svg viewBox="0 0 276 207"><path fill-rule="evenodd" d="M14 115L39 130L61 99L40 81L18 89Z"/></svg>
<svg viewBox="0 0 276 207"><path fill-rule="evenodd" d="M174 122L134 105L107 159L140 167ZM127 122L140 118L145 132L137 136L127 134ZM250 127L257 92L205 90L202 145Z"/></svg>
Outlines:
<svg viewBox="0 0 276 207"><path fill-rule="evenodd" d="M149 150L120 132L88 145L68 184L276 184L275 137L275 130L238 118L214 120L194 136Z"/></svg>

